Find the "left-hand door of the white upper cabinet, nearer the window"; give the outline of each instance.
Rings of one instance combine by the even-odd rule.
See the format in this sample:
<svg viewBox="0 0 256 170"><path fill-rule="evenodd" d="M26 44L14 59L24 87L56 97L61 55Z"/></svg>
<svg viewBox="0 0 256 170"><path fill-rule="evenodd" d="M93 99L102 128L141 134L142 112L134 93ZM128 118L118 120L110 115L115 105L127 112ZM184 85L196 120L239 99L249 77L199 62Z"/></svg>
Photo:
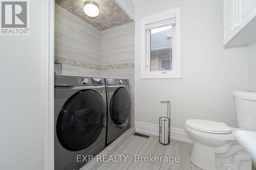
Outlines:
<svg viewBox="0 0 256 170"><path fill-rule="evenodd" d="M247 1L247 0L243 0ZM236 23L236 0L224 0L223 1L223 34L224 45L233 38L237 33L237 30L234 29L234 23Z"/></svg>

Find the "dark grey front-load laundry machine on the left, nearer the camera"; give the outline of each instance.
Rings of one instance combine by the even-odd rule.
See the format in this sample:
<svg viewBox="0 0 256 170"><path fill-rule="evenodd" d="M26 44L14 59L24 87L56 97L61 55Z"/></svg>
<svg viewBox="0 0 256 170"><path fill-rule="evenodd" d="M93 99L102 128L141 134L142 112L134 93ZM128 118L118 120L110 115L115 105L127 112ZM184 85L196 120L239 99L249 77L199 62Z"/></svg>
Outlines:
<svg viewBox="0 0 256 170"><path fill-rule="evenodd" d="M54 92L55 170L76 170L88 162L89 155L95 156L105 147L105 82L55 76Z"/></svg>

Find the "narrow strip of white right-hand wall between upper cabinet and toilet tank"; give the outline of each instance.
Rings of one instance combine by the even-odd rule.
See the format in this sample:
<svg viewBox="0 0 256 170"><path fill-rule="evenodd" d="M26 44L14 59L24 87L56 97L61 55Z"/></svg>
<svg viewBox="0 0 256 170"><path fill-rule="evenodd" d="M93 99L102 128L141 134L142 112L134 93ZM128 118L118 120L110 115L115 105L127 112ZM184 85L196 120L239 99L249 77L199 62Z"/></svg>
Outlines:
<svg viewBox="0 0 256 170"><path fill-rule="evenodd" d="M249 89L256 90L256 45L249 47Z"/></svg>

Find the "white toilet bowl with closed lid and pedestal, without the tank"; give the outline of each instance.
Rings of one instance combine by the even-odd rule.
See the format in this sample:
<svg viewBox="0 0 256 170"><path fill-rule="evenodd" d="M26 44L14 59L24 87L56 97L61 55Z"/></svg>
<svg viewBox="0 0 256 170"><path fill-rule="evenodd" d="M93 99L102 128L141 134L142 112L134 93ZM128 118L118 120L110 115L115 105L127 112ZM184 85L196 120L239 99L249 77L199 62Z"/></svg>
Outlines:
<svg viewBox="0 0 256 170"><path fill-rule="evenodd" d="M186 120L185 129L194 138L190 160L198 167L204 170L251 169L250 156L234 139L233 133L239 129L202 119ZM234 155L241 158L238 165L232 163Z"/></svg>

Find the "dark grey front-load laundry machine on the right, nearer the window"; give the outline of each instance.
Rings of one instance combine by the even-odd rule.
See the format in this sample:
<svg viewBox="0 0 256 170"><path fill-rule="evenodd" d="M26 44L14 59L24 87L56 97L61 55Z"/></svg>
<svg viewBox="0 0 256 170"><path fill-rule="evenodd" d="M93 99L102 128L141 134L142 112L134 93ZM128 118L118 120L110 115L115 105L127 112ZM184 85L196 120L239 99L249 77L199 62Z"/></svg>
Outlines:
<svg viewBox="0 0 256 170"><path fill-rule="evenodd" d="M106 144L110 144L127 129L131 120L131 92L129 80L105 79L108 118Z"/></svg>

